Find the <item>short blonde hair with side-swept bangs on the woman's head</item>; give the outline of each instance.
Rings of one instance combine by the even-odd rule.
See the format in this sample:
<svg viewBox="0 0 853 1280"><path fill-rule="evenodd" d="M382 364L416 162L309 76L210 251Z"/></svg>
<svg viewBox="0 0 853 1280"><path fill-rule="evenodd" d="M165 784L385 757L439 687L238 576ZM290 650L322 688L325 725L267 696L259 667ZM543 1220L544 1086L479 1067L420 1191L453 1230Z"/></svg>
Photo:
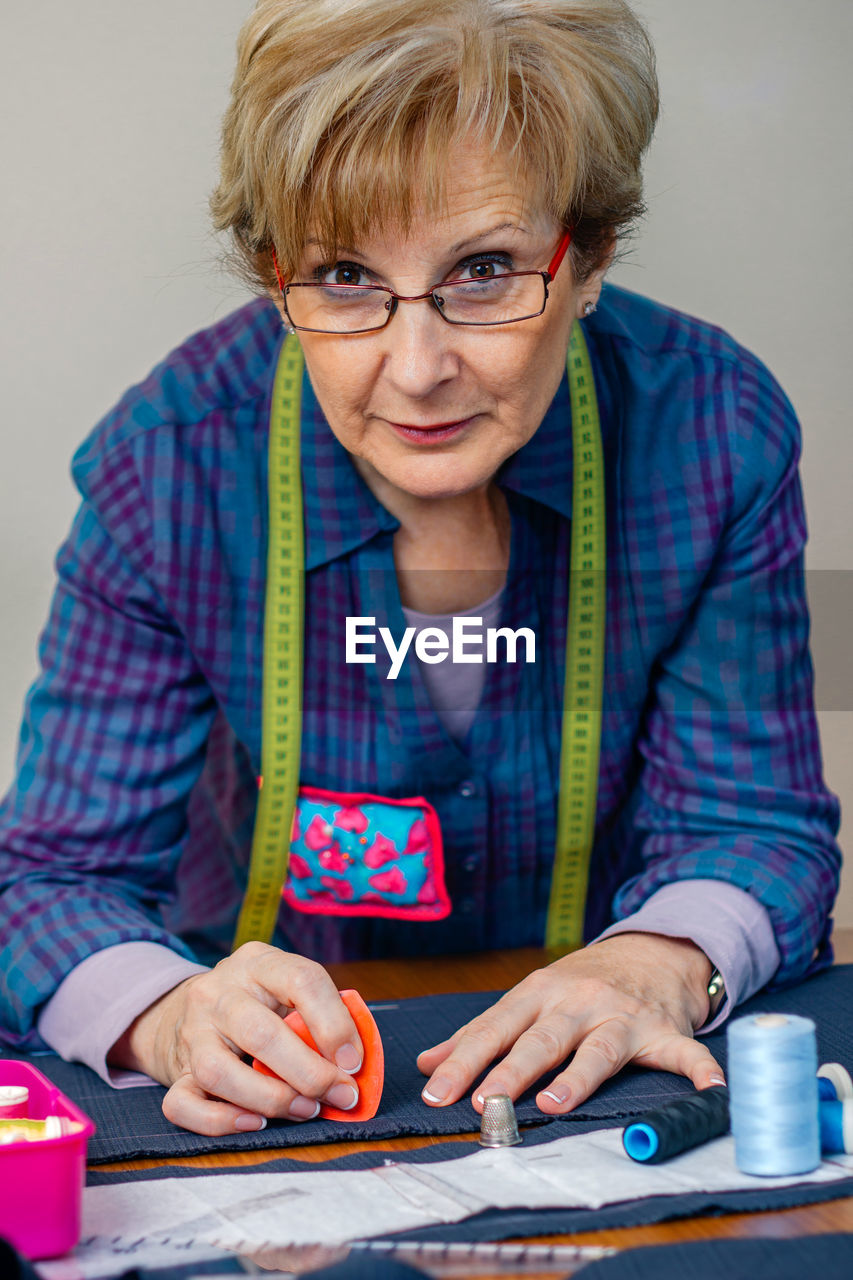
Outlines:
<svg viewBox="0 0 853 1280"><path fill-rule="evenodd" d="M575 278L643 212L654 54L624 0L259 0L223 125L218 230L255 288L438 211L455 142L514 166L574 227Z"/></svg>

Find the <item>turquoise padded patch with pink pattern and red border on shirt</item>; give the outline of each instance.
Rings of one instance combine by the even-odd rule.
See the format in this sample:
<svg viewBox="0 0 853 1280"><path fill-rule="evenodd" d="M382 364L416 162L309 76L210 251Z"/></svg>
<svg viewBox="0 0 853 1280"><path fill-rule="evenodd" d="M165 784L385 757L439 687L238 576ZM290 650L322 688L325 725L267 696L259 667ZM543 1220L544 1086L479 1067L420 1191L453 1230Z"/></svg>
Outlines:
<svg viewBox="0 0 853 1280"><path fill-rule="evenodd" d="M451 901L438 814L423 796L300 787L282 896L321 915L443 920Z"/></svg>

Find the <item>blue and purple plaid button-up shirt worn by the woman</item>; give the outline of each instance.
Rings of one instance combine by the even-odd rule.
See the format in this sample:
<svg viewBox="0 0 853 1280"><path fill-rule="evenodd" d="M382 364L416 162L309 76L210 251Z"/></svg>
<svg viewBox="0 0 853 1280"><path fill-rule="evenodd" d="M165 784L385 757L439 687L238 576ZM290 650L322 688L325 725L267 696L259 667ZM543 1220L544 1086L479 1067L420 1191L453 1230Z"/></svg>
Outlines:
<svg viewBox="0 0 853 1280"><path fill-rule="evenodd" d="M777 980L829 955L839 814L821 777L803 581L799 431L768 371L710 325L607 287L584 323L607 472L607 631L587 937L661 886L721 879L767 910ZM260 768L266 444L278 314L251 302L174 351L74 456L17 777L0 806L0 1024L17 1046L86 956L132 940L228 948ZM571 530L564 380L501 468L505 626L453 741L414 660L347 664L347 616L400 636L397 521L302 411L301 781L424 795L443 831L443 922L311 916L315 959L540 945L558 786Z"/></svg>

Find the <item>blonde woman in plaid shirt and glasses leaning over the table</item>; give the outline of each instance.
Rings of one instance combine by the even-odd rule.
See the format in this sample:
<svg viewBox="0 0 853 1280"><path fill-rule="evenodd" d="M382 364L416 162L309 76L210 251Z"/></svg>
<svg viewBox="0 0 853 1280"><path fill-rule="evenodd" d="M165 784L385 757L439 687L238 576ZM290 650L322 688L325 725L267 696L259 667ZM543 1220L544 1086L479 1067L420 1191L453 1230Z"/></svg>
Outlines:
<svg viewBox="0 0 853 1280"><path fill-rule="evenodd" d="M76 456L83 503L0 815L9 1043L141 1070L175 1124L256 1129L357 1100L323 963L542 942L564 675L593 662L566 648L573 539L601 547L573 490L596 470L573 390L601 419L607 530L603 708L571 722L601 716L592 945L425 1050L424 1100L489 1064L478 1110L547 1074L538 1105L566 1112L629 1061L706 1087L720 1068L694 1032L826 959L838 812L797 424L733 339L603 285L656 114L621 0L256 6L213 209L261 297ZM567 372L578 328L588 376ZM302 524L287 483L268 499L279 365L300 396L300 794L275 945L210 969L275 703L265 550ZM435 660L453 618L512 632L516 660L497 640L491 663ZM410 652L407 628L432 635Z"/></svg>

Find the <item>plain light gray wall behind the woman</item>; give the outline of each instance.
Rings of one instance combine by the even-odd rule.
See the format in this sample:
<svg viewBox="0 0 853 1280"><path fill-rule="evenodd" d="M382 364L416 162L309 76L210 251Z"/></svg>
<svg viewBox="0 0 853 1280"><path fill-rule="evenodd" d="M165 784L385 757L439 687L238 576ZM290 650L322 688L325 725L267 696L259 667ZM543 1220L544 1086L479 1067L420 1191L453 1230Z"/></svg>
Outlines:
<svg viewBox="0 0 853 1280"><path fill-rule="evenodd" d="M13 768L70 454L120 392L245 294L206 196L248 0L6 5L3 129L0 788ZM803 424L829 783L853 831L853 5L639 0L663 116L649 216L613 279L730 329ZM836 913L853 925L853 873Z"/></svg>

